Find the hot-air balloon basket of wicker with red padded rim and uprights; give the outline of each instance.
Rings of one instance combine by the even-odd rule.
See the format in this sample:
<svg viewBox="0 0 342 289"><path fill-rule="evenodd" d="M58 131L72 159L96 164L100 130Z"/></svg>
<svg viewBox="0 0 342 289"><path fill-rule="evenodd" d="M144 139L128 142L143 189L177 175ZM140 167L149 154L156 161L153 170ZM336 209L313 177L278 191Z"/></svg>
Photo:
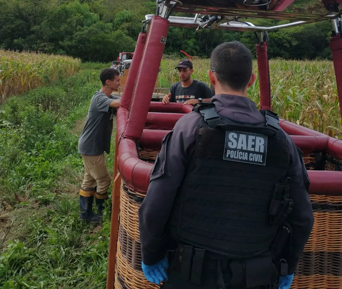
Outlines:
<svg viewBox="0 0 342 289"><path fill-rule="evenodd" d="M293 1L160 0L156 2L156 15L146 15L117 113L107 289L159 288L148 282L142 272L138 209L146 194L163 136L193 108L190 105L163 105L152 101L170 26L255 32L258 38L260 109L272 110L268 37L272 37L272 31L278 29L330 21L329 46L342 112L340 0L322 0L328 10L326 14L284 12ZM194 17L171 16L172 12L191 13ZM246 17L289 22L261 27L245 21ZM280 126L304 153L315 217L291 288L342 288L342 141L284 119L280 120Z"/></svg>

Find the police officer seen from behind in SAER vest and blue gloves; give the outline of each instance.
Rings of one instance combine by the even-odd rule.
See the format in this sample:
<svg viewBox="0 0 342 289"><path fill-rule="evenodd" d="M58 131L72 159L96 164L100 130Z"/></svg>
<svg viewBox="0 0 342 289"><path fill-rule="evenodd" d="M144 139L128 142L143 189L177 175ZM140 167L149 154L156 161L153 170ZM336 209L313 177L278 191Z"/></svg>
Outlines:
<svg viewBox="0 0 342 289"><path fill-rule="evenodd" d="M313 227L302 153L247 98L251 52L212 52L215 96L162 141L139 210L142 269L165 289L288 289Z"/></svg>

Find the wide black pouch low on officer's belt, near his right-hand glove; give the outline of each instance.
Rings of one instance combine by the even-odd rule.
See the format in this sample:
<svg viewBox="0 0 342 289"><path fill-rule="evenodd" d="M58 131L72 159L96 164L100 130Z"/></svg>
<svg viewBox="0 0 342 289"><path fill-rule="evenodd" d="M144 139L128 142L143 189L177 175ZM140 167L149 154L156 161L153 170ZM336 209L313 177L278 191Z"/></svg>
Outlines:
<svg viewBox="0 0 342 289"><path fill-rule="evenodd" d="M229 264L231 269L230 286L253 288L277 283L278 270L272 262L271 252L260 254L243 261L234 260Z"/></svg>

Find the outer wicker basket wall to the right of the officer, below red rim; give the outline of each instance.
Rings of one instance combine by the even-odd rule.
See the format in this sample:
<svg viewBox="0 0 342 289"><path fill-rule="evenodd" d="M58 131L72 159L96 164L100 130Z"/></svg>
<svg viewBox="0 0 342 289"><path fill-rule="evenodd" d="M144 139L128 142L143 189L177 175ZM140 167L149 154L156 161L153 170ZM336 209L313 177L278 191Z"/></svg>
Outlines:
<svg viewBox="0 0 342 289"><path fill-rule="evenodd" d="M342 288L342 196L310 195L315 222L291 288Z"/></svg>

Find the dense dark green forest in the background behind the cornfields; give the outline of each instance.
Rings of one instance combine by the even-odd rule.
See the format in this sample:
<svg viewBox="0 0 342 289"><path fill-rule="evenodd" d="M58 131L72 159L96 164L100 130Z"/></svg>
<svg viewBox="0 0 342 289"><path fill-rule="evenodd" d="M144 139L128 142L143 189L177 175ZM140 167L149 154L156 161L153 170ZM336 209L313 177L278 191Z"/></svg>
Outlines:
<svg viewBox="0 0 342 289"><path fill-rule="evenodd" d="M304 2L297 0L290 9L309 13L322 9L319 0L310 5ZM152 0L0 0L0 7L0 49L65 54L98 62L134 51L141 21L156 11ZM254 19L253 23L284 22ZM330 30L329 22L319 22L269 33L269 57L331 58ZM171 27L165 53L180 56L179 51L184 50L208 57L216 45L231 40L240 40L255 51L254 33Z"/></svg>

